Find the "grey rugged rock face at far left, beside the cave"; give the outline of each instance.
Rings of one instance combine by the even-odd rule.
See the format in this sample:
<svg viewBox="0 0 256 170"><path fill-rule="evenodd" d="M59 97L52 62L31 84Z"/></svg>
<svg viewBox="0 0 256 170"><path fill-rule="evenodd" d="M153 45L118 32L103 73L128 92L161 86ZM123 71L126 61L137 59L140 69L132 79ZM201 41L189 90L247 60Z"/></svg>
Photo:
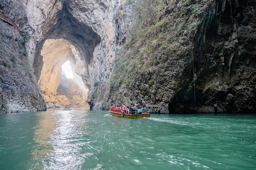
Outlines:
<svg viewBox="0 0 256 170"><path fill-rule="evenodd" d="M20 1L0 1L0 113L46 110L27 58L24 11Z"/></svg>

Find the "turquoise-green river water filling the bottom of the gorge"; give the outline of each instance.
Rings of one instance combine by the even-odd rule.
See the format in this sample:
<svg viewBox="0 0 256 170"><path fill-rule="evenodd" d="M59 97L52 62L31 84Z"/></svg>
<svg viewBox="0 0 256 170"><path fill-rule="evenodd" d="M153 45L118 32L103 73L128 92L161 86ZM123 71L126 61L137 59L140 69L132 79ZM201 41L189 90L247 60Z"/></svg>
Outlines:
<svg viewBox="0 0 256 170"><path fill-rule="evenodd" d="M256 115L0 115L0 170L256 170Z"/></svg>

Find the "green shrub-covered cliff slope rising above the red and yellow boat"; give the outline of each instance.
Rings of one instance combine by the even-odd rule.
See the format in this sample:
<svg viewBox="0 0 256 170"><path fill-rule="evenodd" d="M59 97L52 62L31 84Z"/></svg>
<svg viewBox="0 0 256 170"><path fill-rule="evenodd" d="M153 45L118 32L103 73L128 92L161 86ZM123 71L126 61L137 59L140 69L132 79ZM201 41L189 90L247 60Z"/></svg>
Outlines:
<svg viewBox="0 0 256 170"><path fill-rule="evenodd" d="M193 44L189 42L193 42L211 1L174 0L168 1L168 6L162 0L134 1L135 13L130 18L135 22L129 25L131 37L119 52L109 98L122 102L124 96L137 100L142 94L154 99L157 89L168 87L168 94L161 95L166 95L164 100L171 100L171 89L179 88L175 80L182 76L182 69L189 66L187 69L192 72L182 81L193 76ZM132 97L135 90L139 92Z"/></svg>

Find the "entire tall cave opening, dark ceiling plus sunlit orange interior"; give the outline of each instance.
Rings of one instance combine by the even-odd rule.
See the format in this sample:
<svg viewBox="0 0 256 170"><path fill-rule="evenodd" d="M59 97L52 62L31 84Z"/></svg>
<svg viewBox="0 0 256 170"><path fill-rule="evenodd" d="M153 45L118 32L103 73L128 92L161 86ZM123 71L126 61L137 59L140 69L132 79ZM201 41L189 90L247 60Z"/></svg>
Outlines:
<svg viewBox="0 0 256 170"><path fill-rule="evenodd" d="M36 46L34 69L40 93L47 102L87 107L88 64L101 38L88 25L77 21L67 4L56 17L56 24ZM62 65L67 61L73 79L62 73Z"/></svg>

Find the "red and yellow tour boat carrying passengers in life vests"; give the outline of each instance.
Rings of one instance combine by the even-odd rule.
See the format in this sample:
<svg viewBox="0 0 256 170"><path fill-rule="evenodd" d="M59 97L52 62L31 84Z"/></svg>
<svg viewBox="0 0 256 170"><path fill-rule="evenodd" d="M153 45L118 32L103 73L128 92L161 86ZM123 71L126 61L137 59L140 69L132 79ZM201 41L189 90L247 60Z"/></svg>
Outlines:
<svg viewBox="0 0 256 170"><path fill-rule="evenodd" d="M150 113L148 112L148 108L140 108L140 109L135 109L135 108L130 108L128 110L119 110L115 108L110 108L108 110L108 113L110 113L112 116L116 117L124 117L124 118L132 118L132 119L137 119L137 118L149 118Z"/></svg>

